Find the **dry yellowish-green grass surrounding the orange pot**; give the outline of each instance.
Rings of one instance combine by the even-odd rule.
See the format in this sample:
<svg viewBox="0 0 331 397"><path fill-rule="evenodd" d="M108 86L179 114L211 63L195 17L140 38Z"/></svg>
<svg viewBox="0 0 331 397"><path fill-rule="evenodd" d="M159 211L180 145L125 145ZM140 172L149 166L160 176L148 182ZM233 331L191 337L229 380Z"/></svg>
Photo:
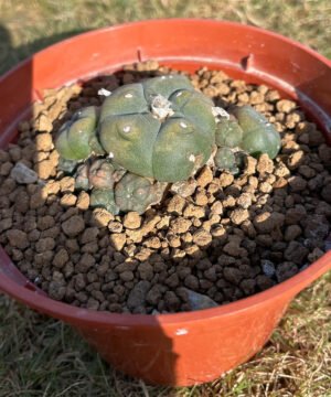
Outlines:
<svg viewBox="0 0 331 397"><path fill-rule="evenodd" d="M166 17L227 19L274 30L331 57L329 0L0 0L0 74L83 31ZM249 363L191 388L151 387L117 373L75 332L0 297L0 397L331 396L331 273L290 305Z"/></svg>

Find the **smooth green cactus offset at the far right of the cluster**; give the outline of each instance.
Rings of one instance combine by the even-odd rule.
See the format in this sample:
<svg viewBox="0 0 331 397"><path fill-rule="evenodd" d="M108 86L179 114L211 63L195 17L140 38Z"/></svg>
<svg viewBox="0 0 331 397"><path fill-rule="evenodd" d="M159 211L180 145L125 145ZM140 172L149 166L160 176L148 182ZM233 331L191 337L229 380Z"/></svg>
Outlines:
<svg viewBox="0 0 331 397"><path fill-rule="evenodd" d="M241 148L252 155L267 153L275 159L280 149L280 136L275 127L250 106L233 110L244 131Z"/></svg>

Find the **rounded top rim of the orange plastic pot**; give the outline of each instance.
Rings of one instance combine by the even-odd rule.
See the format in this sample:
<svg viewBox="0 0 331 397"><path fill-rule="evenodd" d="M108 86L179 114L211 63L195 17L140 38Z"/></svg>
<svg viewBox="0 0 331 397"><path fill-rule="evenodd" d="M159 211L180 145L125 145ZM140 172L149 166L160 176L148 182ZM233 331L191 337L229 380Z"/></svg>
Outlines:
<svg viewBox="0 0 331 397"><path fill-rule="evenodd" d="M34 55L30 56L28 60L22 61L17 66L11 68L9 72L7 72L4 75L0 77L0 82L6 79L9 75L14 74L18 69L20 69L23 65L26 63L30 63L33 61L33 57L35 55L43 55L49 51L49 49L54 49L56 46L61 46L64 42L74 42L75 40L84 39L86 36L92 36L95 34L98 34L102 31L116 31L116 30L122 30L122 29L129 29L130 26L143 26L145 24L158 24L158 23L172 23L172 21L181 21L183 23L204 23L205 25L212 25L214 24L215 28L220 24L223 24L225 26L228 26L229 29L243 29L245 31L254 31L254 32L260 32L263 34L273 36L275 39L278 39L279 41L282 41L285 43L288 43L292 45L293 47L300 49L301 51L305 51L309 54L311 54L313 57L319 60L320 62L324 63L327 66L331 66L331 61L324 57L323 55L317 53L316 51L311 50L305 44L298 43L291 39L285 37L278 33L246 25L243 23L237 22L229 22L229 21L217 21L212 19L181 19L181 18L172 18L172 19L154 19L154 20L143 20L138 22L128 22L122 23L114 26L108 28L102 28L93 31L88 31L85 33L81 33L78 35L65 39L56 44L53 44ZM77 76L77 79L79 76ZM25 303L28 307L31 307L35 310L39 310L41 312L51 314L55 318L62 319L64 321L67 321L70 323L75 323L76 321L82 321L86 324L94 323L98 324L98 326L102 325L117 325L117 326L132 326L136 324L143 325L143 326L160 326L160 325L183 325L184 323L192 323L192 322L201 322L206 319L211 320L213 318L220 318L220 316L231 316L235 315L241 311L245 311L248 309L253 309L254 307L258 307L260 304L265 304L266 301L275 300L275 299L281 299L284 294L287 296L295 296L298 293L301 289L307 287L310 282L316 280L318 277L320 277L322 273L324 273L327 270L331 269L331 251L325 253L320 259L318 259L316 262L311 264L309 267L307 267L305 270L300 271L298 275L291 277L290 279L276 285L263 292L255 293L254 296L243 298L238 301L231 302L224 305L220 305L212 309L205 309L205 310L199 310L199 311L192 311L192 312L180 312L180 313L171 313L171 314L158 314L158 315L151 315L151 314L130 314L130 313L111 313L111 312L102 312L102 311L95 311L92 309L82 309L76 308L72 304L55 301L47 296L42 294L38 288L31 290L26 287L30 285L30 282L26 282L24 286L23 283L19 283L13 281L13 278L15 278L14 270L15 265L11 261L9 256L6 254L3 248L0 246L0 290L8 293L9 296L15 298L17 300ZM4 267L7 270L4 270ZM11 270L10 268L14 267L15 269ZM10 277L11 275L12 277ZM28 279L26 279L28 281ZM31 285L30 285L31 287Z"/></svg>

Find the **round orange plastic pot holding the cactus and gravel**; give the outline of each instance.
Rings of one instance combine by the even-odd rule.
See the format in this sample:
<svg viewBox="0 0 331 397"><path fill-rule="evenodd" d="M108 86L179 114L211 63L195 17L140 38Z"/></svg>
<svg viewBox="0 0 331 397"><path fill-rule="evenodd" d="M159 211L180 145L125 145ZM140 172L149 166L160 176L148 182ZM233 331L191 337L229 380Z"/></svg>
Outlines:
<svg viewBox="0 0 331 397"><path fill-rule="evenodd" d="M209 20L156 20L103 29L53 45L0 81L0 147L44 88L158 60L183 69L225 69L265 83L300 101L331 141L328 60L280 35ZM54 301L29 282L0 250L0 289L30 308L73 325L116 368L152 384L213 380L268 341L291 299L331 269L329 251L291 279L220 308L163 314L113 314Z"/></svg>

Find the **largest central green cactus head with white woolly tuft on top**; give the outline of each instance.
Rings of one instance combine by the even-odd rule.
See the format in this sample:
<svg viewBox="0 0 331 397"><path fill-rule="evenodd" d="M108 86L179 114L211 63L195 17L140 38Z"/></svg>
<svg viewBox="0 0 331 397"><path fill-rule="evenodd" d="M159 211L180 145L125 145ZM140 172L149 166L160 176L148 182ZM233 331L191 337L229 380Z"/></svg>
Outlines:
<svg viewBox="0 0 331 397"><path fill-rule="evenodd" d="M118 105L118 103L120 105ZM186 180L211 155L213 103L180 75L118 88L104 103L99 141L126 170L163 182Z"/></svg>

